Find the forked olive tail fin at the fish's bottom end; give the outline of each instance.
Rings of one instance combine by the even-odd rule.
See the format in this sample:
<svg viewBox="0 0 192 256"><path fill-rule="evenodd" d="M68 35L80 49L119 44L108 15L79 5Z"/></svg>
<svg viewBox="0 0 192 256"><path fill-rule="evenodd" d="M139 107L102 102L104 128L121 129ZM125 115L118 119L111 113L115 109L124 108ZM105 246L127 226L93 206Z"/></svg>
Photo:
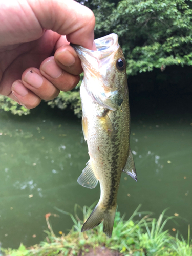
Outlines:
<svg viewBox="0 0 192 256"><path fill-rule="evenodd" d="M81 232L90 230L98 226L102 220L103 222L103 232L111 238L113 231L113 224L115 219L116 206L111 209L101 208L99 204L96 205L95 209L92 211L90 217L82 226Z"/></svg>

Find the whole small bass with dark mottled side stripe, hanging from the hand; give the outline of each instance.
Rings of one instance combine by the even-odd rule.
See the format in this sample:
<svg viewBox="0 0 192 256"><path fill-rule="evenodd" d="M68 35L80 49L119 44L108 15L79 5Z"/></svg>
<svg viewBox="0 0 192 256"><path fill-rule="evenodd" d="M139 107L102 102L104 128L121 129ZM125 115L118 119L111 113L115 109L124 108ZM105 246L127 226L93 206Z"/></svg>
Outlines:
<svg viewBox="0 0 192 256"><path fill-rule="evenodd" d="M82 130L90 160L78 183L95 188L100 183L100 199L81 232L98 226L111 237L117 208L121 173L137 181L130 149L130 108L126 63L118 36L95 40L96 51L72 45L81 60L84 77L80 86Z"/></svg>

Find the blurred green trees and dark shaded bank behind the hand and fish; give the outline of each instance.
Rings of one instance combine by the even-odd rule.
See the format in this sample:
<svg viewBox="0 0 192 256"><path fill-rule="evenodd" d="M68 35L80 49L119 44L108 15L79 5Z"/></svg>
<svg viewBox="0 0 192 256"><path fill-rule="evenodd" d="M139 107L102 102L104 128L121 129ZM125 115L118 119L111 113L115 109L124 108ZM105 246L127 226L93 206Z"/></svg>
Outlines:
<svg viewBox="0 0 192 256"><path fill-rule="evenodd" d="M127 61L129 88L165 93L191 92L192 1L191 0L84 0L77 2L93 10L95 38L117 33ZM71 108L81 116L79 87L61 92L48 105ZM0 96L0 108L13 114L30 111Z"/></svg>

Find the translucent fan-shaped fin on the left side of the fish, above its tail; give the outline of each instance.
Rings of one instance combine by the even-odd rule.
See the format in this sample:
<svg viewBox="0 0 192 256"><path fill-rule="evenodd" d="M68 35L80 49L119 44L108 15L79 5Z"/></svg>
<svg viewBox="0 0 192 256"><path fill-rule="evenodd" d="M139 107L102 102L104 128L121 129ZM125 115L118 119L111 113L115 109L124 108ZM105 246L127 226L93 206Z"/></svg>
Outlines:
<svg viewBox="0 0 192 256"><path fill-rule="evenodd" d="M77 181L83 187L95 188L97 186L98 179L93 172L90 160L87 162L86 168L83 169Z"/></svg>

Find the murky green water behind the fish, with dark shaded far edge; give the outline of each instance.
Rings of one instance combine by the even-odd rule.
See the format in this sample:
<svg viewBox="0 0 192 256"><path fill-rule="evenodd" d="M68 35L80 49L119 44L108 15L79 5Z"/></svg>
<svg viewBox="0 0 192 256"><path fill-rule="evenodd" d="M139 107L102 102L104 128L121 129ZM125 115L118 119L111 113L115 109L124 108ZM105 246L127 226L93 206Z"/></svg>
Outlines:
<svg viewBox="0 0 192 256"><path fill-rule="evenodd" d="M131 148L138 182L122 174L118 210L129 218L142 204L140 210L158 217L170 207L167 215L177 213L183 219L167 228L176 228L186 237L192 224L190 101L168 104L166 99L157 105L147 101L131 104ZM41 106L30 116L0 112L0 121L2 246L17 248L20 242L30 246L43 240L49 212L59 214L50 217L54 232L66 233L72 221L54 207L73 213L76 203L90 206L100 195L99 185L91 190L77 183L89 159L81 121Z"/></svg>

